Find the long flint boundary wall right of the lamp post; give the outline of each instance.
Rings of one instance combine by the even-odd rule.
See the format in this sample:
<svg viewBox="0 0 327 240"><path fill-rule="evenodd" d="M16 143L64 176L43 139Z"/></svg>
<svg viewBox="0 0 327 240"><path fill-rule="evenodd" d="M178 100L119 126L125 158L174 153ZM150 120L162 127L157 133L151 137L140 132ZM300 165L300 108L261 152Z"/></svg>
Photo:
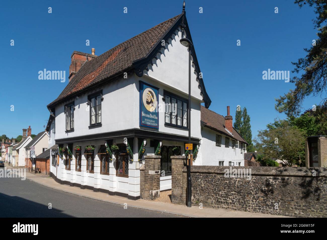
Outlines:
<svg viewBox="0 0 327 240"><path fill-rule="evenodd" d="M198 202L204 207L246 212L327 217L326 168L233 168L251 169L251 179L227 178L226 167L192 166L192 205ZM183 198L186 198L186 167L183 168Z"/></svg>

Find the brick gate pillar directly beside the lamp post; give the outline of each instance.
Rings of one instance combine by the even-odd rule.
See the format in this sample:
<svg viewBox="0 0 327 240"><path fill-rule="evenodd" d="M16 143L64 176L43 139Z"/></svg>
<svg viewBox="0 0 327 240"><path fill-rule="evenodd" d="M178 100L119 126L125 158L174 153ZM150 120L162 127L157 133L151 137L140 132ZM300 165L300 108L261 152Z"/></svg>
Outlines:
<svg viewBox="0 0 327 240"><path fill-rule="evenodd" d="M186 156L171 156L171 202L186 204L183 198L183 168Z"/></svg>

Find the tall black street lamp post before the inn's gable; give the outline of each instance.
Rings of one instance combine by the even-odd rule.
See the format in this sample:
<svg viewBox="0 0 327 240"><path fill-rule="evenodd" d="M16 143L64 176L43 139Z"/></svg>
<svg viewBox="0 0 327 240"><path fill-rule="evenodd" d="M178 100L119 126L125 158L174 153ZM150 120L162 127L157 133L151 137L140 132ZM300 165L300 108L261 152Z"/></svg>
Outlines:
<svg viewBox="0 0 327 240"><path fill-rule="evenodd" d="M187 47L188 49L188 143L191 143L191 46L192 46L192 42L187 38L182 38L180 42L183 46ZM190 157L188 158L188 168L187 168L187 206L188 207L192 206L191 153L192 150L190 150Z"/></svg>

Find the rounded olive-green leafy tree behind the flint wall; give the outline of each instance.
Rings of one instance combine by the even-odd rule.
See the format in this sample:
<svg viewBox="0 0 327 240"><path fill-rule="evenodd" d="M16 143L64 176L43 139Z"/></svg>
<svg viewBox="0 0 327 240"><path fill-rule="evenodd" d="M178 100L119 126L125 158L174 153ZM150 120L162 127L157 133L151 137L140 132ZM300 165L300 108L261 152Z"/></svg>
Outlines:
<svg viewBox="0 0 327 240"><path fill-rule="evenodd" d="M303 165L305 132L290 125L288 120L276 120L260 130L255 143L263 149L263 161L281 159L288 166Z"/></svg>

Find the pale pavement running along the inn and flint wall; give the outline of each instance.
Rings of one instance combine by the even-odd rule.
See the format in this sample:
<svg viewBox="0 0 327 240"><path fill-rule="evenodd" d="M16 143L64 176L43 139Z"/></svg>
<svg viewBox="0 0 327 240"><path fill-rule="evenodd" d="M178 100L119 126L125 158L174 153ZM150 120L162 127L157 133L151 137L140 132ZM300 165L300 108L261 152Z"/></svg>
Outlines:
<svg viewBox="0 0 327 240"><path fill-rule="evenodd" d="M13 167L5 164L7 169ZM138 208L149 211L156 211L161 213L168 213L177 216L186 217L287 217L287 216L277 216L262 213L251 213L242 212L228 209L217 209L217 208L200 208L199 206L187 207L183 204L172 204L167 202L149 201L149 200L129 200L124 197L111 196L106 193L94 192L89 189L80 189L79 187L73 187L66 184L59 184L55 182L51 177L45 174L35 174L26 171L26 179L34 181L35 183L41 184L43 186L59 190L61 192L73 194L79 197L89 198L93 200L99 200L103 202L108 202L116 205L128 206L131 208ZM21 180L20 180L21 181Z"/></svg>

